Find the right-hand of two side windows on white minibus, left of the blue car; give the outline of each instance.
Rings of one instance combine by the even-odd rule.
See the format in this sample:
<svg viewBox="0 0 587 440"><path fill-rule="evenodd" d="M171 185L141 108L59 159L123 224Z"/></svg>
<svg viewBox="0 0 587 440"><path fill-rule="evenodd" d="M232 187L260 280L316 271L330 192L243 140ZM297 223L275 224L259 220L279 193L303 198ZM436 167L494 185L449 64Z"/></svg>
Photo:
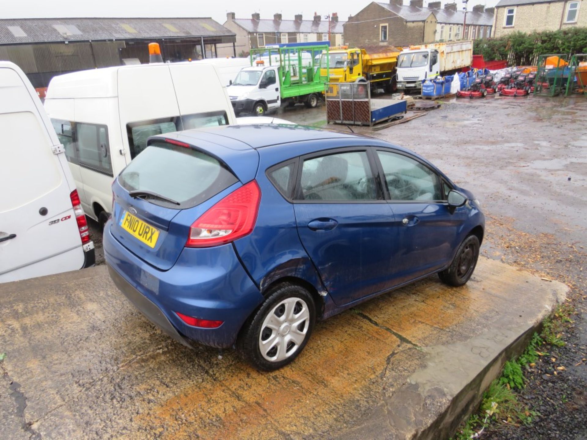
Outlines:
<svg viewBox="0 0 587 440"><path fill-rule="evenodd" d="M112 174L108 129L98 124L76 123L77 157L80 165Z"/></svg>

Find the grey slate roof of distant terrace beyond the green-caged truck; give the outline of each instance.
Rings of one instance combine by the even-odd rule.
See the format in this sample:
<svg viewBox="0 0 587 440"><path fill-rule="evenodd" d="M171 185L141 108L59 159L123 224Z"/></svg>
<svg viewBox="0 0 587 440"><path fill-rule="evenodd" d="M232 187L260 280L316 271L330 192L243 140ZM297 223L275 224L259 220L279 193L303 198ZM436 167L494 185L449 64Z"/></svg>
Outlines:
<svg viewBox="0 0 587 440"><path fill-rule="evenodd" d="M313 20L281 20L272 19L253 20L252 18L235 18L232 20L247 32L299 32L299 33L328 33L328 21L315 22ZM346 22L330 22L330 33L343 33L342 26Z"/></svg>

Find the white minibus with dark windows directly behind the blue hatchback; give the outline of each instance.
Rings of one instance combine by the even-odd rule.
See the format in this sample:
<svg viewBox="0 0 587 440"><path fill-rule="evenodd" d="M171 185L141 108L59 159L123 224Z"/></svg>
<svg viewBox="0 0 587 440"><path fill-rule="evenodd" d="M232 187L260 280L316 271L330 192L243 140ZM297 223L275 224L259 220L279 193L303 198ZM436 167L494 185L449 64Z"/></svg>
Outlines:
<svg viewBox="0 0 587 440"><path fill-rule="evenodd" d="M86 214L103 225L112 181L147 138L235 124L214 65L200 62L116 66L55 76L45 109L76 181Z"/></svg>

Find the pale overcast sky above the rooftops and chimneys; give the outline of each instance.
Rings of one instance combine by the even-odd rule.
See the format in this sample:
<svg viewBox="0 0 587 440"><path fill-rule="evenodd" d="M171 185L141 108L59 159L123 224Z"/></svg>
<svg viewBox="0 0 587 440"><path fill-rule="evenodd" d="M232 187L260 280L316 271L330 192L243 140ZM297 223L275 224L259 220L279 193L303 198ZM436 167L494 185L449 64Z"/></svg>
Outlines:
<svg viewBox="0 0 587 440"><path fill-rule="evenodd" d="M468 9L477 4L494 6L497 1L469 0ZM237 18L250 18L251 12L261 13L261 18L273 18L273 14L279 12L283 19L293 19L296 13L309 19L314 12L322 16L338 12L342 21L368 4L368 0L256 0L250 3L242 0L0 0L0 18L211 16L222 24L227 12L235 12ZM404 4L409 4L409 0L404 0ZM424 0L424 5L427 4ZM463 7L461 0L457 0L457 7Z"/></svg>

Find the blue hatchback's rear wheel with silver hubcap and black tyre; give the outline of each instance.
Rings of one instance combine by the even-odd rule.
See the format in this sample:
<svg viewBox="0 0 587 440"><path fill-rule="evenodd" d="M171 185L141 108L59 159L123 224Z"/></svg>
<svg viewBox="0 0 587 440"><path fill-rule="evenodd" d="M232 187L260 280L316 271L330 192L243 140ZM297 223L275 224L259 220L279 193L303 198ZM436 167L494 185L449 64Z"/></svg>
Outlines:
<svg viewBox="0 0 587 440"><path fill-rule="evenodd" d="M308 290L282 283L245 323L238 339L242 356L255 368L274 371L294 361L310 339L316 306Z"/></svg>

